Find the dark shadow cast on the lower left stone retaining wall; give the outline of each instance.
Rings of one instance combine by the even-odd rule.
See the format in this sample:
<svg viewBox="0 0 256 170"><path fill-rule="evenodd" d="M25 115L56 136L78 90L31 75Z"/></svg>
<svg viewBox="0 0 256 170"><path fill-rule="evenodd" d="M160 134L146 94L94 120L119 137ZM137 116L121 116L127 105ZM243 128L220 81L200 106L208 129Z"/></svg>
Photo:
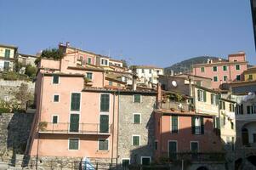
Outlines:
<svg viewBox="0 0 256 170"><path fill-rule="evenodd" d="M7 149L12 150L11 163L16 162L16 155L24 155L31 131L34 114L14 113L8 125Z"/></svg>

